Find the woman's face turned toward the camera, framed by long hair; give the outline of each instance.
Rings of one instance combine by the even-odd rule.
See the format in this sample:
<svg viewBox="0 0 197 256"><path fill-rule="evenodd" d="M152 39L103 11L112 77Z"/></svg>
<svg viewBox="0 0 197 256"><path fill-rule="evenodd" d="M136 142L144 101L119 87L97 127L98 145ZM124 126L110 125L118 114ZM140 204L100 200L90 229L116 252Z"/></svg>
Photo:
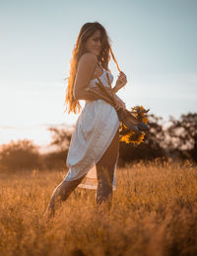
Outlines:
<svg viewBox="0 0 197 256"><path fill-rule="evenodd" d="M101 36L101 32L98 30L86 42L86 49L89 52L96 54L97 56L99 56L99 52L101 50L100 36Z"/></svg>

